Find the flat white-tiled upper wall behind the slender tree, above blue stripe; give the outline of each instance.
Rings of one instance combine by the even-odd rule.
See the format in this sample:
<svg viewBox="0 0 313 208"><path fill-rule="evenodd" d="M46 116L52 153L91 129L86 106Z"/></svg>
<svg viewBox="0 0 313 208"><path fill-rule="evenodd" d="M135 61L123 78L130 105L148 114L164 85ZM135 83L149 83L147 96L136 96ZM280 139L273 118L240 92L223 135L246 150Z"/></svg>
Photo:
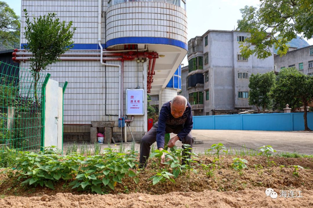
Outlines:
<svg viewBox="0 0 313 208"><path fill-rule="evenodd" d="M74 44L94 44L98 42L98 0L22 0L21 43L26 43L24 38L26 24L23 9L27 9L30 18L54 12L60 21L66 23L72 21L73 27L76 27ZM102 11L106 11L106 9L107 0L104 0ZM105 22L104 15L102 22ZM102 31L102 40L105 40L104 24Z"/></svg>

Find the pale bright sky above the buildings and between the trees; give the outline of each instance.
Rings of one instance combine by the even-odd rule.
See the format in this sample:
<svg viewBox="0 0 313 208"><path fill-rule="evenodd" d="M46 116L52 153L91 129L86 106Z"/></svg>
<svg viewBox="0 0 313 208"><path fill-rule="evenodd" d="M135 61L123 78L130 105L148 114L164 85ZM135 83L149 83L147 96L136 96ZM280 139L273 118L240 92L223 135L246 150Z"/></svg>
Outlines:
<svg viewBox="0 0 313 208"><path fill-rule="evenodd" d="M21 0L4 1L21 15ZM201 36L208 30L236 29L237 20L241 19L240 9L245 5L258 7L259 4L259 0L187 0L187 39ZM313 39L306 41L313 45ZM187 57L182 64L188 65Z"/></svg>

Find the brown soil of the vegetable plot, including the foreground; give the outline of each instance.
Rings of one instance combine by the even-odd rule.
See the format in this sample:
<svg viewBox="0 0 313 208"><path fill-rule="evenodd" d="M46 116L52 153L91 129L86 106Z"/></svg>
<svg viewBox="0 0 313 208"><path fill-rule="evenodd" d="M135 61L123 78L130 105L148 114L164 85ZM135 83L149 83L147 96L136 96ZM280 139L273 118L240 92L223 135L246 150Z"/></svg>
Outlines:
<svg viewBox="0 0 313 208"><path fill-rule="evenodd" d="M267 166L266 157L241 157L248 160L248 169L240 177L231 168L234 156L223 156L220 169L208 177L201 167L190 177L179 177L176 183L151 185L148 178L156 167L149 160L141 172L139 184L125 178L111 194L97 195L70 190L68 182L55 184L55 190L20 186L15 177L0 174L0 207L313 207L313 158L271 157L275 162ZM199 163L212 163L213 157L203 156ZM254 167L258 165L257 169ZM285 165L282 169L280 165ZM300 165L299 176L288 165ZM284 191L302 191L302 198L272 199L265 195L273 188L280 196ZM126 193L126 194L124 194Z"/></svg>

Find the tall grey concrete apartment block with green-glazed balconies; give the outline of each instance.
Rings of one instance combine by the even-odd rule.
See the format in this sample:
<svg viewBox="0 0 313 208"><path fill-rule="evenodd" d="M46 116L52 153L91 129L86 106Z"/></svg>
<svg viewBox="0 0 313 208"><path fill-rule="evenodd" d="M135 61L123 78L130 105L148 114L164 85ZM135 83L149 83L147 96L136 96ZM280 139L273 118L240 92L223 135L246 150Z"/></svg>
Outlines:
<svg viewBox="0 0 313 208"><path fill-rule="evenodd" d="M182 87L181 94L187 95L193 115L254 109L248 104L249 76L274 70L274 56L264 60L242 57L239 42L247 36L246 32L208 30L188 41L188 74L182 70L187 89Z"/></svg>

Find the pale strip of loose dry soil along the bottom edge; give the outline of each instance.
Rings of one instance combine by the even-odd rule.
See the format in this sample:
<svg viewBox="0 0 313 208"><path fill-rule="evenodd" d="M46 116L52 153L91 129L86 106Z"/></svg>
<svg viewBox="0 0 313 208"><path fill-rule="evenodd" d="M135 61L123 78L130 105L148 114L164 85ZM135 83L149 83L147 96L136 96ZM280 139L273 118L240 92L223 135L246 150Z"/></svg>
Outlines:
<svg viewBox="0 0 313 208"><path fill-rule="evenodd" d="M191 208L191 207L313 207L313 191L303 191L297 198L272 199L264 188L244 191L171 192L164 195L72 195L58 193L54 196L14 197L0 199L2 208L80 207L80 208ZM279 191L279 190L275 190Z"/></svg>

